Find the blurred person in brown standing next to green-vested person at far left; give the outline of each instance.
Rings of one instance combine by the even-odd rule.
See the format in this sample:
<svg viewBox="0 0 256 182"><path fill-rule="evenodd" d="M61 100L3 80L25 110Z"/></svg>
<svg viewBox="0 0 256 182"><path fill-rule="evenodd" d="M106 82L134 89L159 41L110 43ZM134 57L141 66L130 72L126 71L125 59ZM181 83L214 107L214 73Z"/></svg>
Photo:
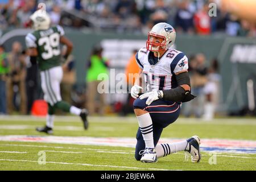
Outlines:
<svg viewBox="0 0 256 182"><path fill-rule="evenodd" d="M19 110L21 114L26 114L26 60L22 55L22 46L19 42L13 43L13 48L9 53L10 63L10 77L7 80L7 112L11 114L13 112L14 93L19 93L20 104Z"/></svg>

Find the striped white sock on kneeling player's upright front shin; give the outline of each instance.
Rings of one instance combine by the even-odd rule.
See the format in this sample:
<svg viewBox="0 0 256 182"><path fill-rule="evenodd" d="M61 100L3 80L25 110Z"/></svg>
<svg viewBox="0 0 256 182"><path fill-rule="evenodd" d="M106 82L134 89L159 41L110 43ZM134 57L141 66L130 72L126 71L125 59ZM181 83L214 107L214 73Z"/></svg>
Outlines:
<svg viewBox="0 0 256 182"><path fill-rule="evenodd" d="M153 125L149 113L137 116L139 129L141 130L146 148L154 148Z"/></svg>

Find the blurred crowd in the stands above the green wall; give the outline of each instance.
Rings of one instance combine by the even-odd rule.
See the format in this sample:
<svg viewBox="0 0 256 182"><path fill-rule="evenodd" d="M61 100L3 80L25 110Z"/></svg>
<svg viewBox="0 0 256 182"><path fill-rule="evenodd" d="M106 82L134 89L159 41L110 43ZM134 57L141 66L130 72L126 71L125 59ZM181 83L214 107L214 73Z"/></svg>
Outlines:
<svg viewBox="0 0 256 182"><path fill-rule="evenodd" d="M67 27L147 34L154 24L167 22L188 34L256 36L255 23L221 6L210 17L208 5L219 5L216 0L10 0L0 5L0 29L26 27L40 2L46 3L53 24Z"/></svg>

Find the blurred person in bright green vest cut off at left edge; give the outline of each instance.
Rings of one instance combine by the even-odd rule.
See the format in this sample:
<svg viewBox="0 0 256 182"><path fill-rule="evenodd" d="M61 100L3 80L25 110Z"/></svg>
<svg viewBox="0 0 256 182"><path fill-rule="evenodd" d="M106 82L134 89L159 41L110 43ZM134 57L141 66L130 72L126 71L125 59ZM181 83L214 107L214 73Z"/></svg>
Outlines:
<svg viewBox="0 0 256 182"><path fill-rule="evenodd" d="M9 63L5 47L0 45L0 115L6 114L6 78L9 72Z"/></svg>

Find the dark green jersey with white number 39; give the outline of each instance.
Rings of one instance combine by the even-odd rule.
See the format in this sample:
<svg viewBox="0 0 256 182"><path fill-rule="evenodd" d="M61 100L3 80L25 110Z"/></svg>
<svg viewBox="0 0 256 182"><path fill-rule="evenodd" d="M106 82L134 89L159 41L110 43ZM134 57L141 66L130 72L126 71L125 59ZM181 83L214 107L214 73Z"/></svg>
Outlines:
<svg viewBox="0 0 256 182"><path fill-rule="evenodd" d="M27 47L38 50L37 61L41 71L61 65L60 37L63 35L64 30L61 26L27 34Z"/></svg>

